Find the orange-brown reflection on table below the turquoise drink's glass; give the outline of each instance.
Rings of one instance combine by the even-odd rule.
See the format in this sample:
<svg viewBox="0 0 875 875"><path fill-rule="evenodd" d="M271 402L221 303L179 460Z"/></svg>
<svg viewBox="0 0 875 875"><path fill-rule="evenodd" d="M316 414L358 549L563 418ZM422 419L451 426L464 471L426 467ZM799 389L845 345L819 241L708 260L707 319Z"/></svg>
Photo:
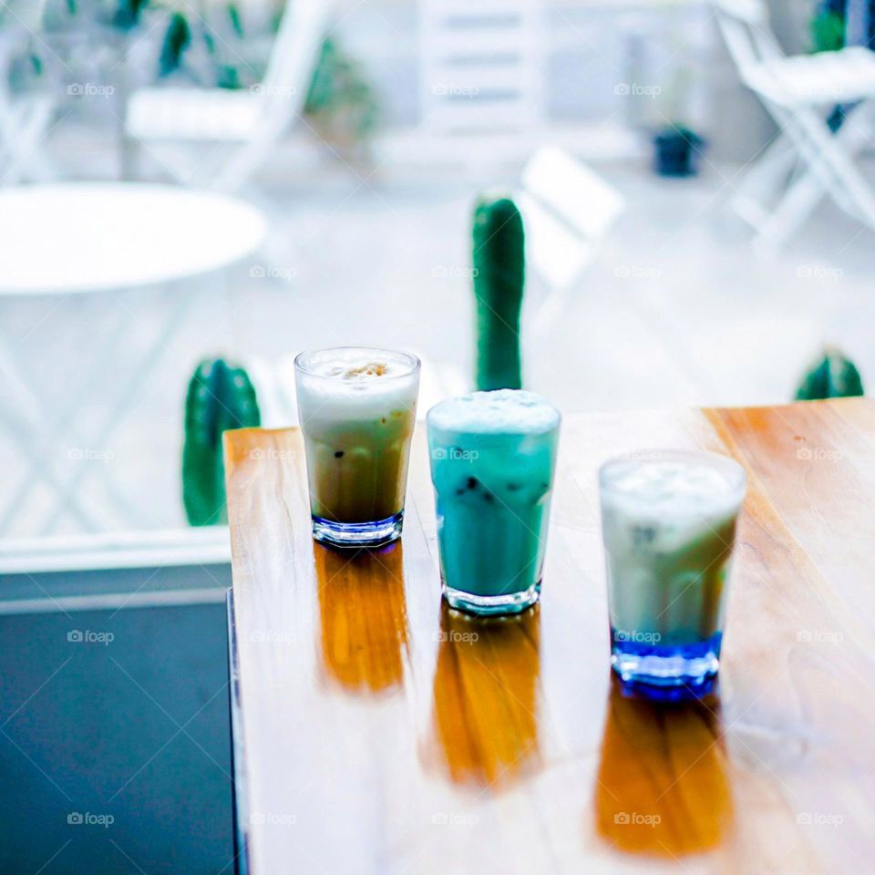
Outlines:
<svg viewBox="0 0 875 875"><path fill-rule="evenodd" d="M456 784L501 787L538 758L540 606L478 618L441 605L434 753Z"/></svg>

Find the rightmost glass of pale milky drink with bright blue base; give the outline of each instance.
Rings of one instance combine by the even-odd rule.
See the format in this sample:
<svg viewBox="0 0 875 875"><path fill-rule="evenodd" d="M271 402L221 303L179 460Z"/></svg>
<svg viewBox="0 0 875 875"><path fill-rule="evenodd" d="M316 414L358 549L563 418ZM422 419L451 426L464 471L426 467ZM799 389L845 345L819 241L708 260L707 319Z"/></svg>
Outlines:
<svg viewBox="0 0 875 875"><path fill-rule="evenodd" d="M716 674L745 470L647 450L599 471L611 662L623 681L697 687Z"/></svg>

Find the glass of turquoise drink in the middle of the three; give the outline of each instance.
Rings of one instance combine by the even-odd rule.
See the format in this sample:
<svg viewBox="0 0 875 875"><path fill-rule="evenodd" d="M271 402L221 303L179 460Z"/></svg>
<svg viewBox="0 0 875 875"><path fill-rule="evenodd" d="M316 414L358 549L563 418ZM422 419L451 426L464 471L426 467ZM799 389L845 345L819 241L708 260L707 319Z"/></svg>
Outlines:
<svg viewBox="0 0 875 875"><path fill-rule="evenodd" d="M514 389L474 392L428 411L444 597L472 613L538 601L559 411Z"/></svg>

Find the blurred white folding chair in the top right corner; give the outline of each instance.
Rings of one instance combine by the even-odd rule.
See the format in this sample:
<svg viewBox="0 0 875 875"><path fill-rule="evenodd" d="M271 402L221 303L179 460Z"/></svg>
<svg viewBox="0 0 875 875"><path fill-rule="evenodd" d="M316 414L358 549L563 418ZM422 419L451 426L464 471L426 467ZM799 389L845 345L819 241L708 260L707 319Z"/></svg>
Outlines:
<svg viewBox="0 0 875 875"><path fill-rule="evenodd" d="M875 54L852 46L787 56L763 0L713 2L739 77L780 128L736 190L738 214L762 239L786 242L828 194L875 229L875 196L854 163L870 143ZM839 104L844 119L833 131L828 120Z"/></svg>

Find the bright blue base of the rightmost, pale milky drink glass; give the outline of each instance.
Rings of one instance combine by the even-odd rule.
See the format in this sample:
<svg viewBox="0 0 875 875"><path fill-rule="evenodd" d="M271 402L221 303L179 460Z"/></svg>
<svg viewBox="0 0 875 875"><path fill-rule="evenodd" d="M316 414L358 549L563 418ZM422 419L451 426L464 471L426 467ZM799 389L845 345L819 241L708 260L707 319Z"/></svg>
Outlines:
<svg viewBox="0 0 875 875"><path fill-rule="evenodd" d="M611 638L612 668L627 684L700 687L720 667L720 632L691 644L626 641L615 629Z"/></svg>

